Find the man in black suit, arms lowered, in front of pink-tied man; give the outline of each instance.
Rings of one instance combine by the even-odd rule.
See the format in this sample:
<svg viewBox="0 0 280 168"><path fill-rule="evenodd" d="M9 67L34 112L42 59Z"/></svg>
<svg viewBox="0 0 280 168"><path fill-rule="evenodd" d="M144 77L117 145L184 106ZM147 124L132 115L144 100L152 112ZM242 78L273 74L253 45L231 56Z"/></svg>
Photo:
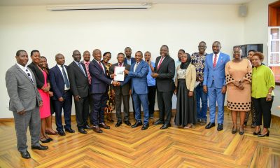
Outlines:
<svg viewBox="0 0 280 168"><path fill-rule="evenodd" d="M88 94L90 92L90 87L87 79L85 64L80 63L80 52L78 50L74 50L72 57L74 60L68 66L68 75L70 90L73 94L75 103L76 122L78 132L87 134L85 129L92 128L87 125L87 118L90 110L88 106Z"/></svg>

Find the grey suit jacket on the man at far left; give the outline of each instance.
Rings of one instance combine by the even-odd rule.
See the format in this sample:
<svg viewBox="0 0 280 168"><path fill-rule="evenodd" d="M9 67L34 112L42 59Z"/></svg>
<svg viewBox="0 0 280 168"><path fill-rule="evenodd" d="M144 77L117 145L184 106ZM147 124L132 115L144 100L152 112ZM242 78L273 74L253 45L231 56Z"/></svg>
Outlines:
<svg viewBox="0 0 280 168"><path fill-rule="evenodd" d="M22 110L30 111L42 101L36 87L36 78L29 69L33 83L17 64L13 65L6 72L6 87L10 97L9 110L20 112Z"/></svg>

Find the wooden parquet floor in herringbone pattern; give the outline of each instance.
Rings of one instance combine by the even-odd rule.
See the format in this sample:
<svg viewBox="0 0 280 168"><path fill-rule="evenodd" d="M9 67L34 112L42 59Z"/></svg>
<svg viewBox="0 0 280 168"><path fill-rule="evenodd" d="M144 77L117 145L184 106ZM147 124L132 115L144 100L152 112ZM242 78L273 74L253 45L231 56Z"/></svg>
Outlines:
<svg viewBox="0 0 280 168"><path fill-rule="evenodd" d="M134 123L134 119L130 121ZM54 140L45 144L48 151L31 150L29 138L31 159L25 160L16 148L13 121L3 120L0 167L280 167L279 118L272 118L269 137L265 138L253 136L248 126L242 136L231 134L230 113L225 113L221 132L200 125L184 130L174 123L160 130L160 125L152 123L150 120L148 130L142 131L124 123L115 127L115 118L115 123L109 123L111 129L103 129L102 134L92 130L80 134L72 117L74 134L50 136Z"/></svg>

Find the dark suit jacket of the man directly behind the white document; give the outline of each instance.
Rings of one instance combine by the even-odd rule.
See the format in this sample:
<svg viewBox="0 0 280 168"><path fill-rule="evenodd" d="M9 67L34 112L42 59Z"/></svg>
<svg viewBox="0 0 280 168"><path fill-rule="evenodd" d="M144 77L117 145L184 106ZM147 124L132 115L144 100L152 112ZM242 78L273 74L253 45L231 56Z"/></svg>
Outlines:
<svg viewBox="0 0 280 168"><path fill-rule="evenodd" d="M112 66L110 66L110 74L113 74L115 71L115 66L118 66L118 63L116 64L112 64ZM130 65L129 64L124 64L125 69L126 70L130 70ZM125 78L127 78L127 75L125 75ZM113 89L115 91L116 95L119 95L120 93L122 93L123 95L129 95L130 94L130 83L127 83L123 86L113 86L111 85L111 89Z"/></svg>

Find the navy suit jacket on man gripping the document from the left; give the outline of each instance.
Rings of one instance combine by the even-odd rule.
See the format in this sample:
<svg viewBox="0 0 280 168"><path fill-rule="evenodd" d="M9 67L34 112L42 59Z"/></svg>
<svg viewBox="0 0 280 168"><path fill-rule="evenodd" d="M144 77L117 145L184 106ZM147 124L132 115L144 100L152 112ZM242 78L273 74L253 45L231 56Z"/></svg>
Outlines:
<svg viewBox="0 0 280 168"><path fill-rule="evenodd" d="M102 69L97 61L92 60L90 62L90 76L92 77L92 85L90 85L90 94L105 93L107 86L111 84L112 80L106 75L106 66L101 62L105 69Z"/></svg>

